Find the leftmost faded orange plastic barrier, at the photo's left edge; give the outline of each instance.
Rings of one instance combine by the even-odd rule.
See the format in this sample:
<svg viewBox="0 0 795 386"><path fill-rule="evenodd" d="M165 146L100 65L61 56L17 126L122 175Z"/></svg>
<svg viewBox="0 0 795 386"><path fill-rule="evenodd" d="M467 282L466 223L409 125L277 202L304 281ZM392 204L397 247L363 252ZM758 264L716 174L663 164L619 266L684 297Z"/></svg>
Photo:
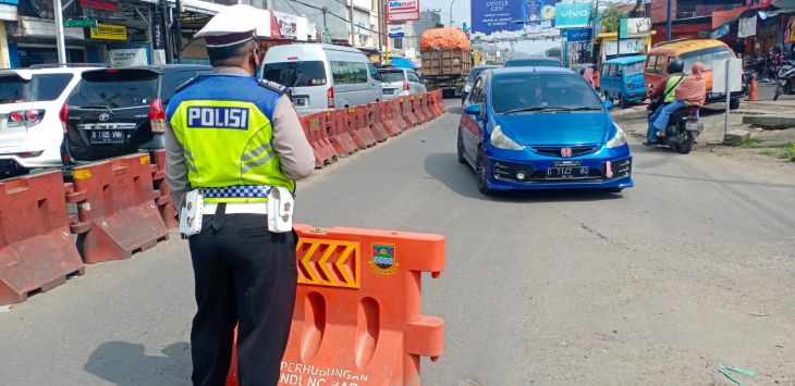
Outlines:
<svg viewBox="0 0 795 386"><path fill-rule="evenodd" d="M23 302L84 273L61 172L0 183L0 304Z"/></svg>

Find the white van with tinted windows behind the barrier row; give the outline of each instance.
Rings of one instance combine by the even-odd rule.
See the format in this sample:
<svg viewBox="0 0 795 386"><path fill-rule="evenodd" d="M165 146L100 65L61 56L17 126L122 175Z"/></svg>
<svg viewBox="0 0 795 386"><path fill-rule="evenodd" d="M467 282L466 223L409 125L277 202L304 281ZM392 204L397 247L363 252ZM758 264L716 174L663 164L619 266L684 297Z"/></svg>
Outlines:
<svg viewBox="0 0 795 386"><path fill-rule="evenodd" d="M299 114L383 100L376 66L362 51L343 46L298 43L268 49L262 77L291 89Z"/></svg>

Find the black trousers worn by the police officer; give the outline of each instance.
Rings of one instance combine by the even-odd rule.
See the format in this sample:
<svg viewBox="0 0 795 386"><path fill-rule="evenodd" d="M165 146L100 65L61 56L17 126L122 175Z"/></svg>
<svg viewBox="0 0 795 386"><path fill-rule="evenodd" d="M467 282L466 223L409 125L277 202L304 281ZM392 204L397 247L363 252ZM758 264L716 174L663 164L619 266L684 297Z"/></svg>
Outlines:
<svg viewBox="0 0 795 386"><path fill-rule="evenodd" d="M191 236L198 311L191 347L193 384L225 383L237 331L238 379L276 385L290 336L297 270L295 233L270 233L265 215L216 214Z"/></svg>

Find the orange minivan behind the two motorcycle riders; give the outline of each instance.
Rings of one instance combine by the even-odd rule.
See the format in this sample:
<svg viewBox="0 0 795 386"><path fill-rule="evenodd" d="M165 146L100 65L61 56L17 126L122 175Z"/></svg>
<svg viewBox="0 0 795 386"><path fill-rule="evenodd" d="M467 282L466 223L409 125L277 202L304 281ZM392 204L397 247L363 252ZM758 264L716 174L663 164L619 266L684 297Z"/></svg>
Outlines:
<svg viewBox="0 0 795 386"><path fill-rule="evenodd" d="M717 60L726 60L736 58L734 51L723 41L714 39L687 39L674 40L658 43L646 58L646 70L644 71L644 80L646 82L646 95L651 95L652 90L660 89L665 83L668 76L668 63L674 58L682 59L685 62L685 74L690 73L693 64L701 62L704 64L704 76L707 79L707 102L717 103L725 102L726 96L723 92L712 92L712 64ZM737 73L743 76L743 73ZM734 110L739 107L739 98L745 95L745 87L742 91L732 92L732 99L729 103L730 109Z"/></svg>

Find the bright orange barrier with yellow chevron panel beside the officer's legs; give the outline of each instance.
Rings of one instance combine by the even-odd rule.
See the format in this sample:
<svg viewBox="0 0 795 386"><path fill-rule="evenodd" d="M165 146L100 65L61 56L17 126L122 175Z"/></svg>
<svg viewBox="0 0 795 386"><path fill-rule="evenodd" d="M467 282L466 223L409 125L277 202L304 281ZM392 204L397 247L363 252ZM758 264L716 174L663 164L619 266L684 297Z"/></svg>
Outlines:
<svg viewBox="0 0 795 386"><path fill-rule="evenodd" d="M439 277L444 237L296 225L298 288L280 385L419 385L419 357L444 349L420 314L421 273ZM234 358L227 385L237 385Z"/></svg>

